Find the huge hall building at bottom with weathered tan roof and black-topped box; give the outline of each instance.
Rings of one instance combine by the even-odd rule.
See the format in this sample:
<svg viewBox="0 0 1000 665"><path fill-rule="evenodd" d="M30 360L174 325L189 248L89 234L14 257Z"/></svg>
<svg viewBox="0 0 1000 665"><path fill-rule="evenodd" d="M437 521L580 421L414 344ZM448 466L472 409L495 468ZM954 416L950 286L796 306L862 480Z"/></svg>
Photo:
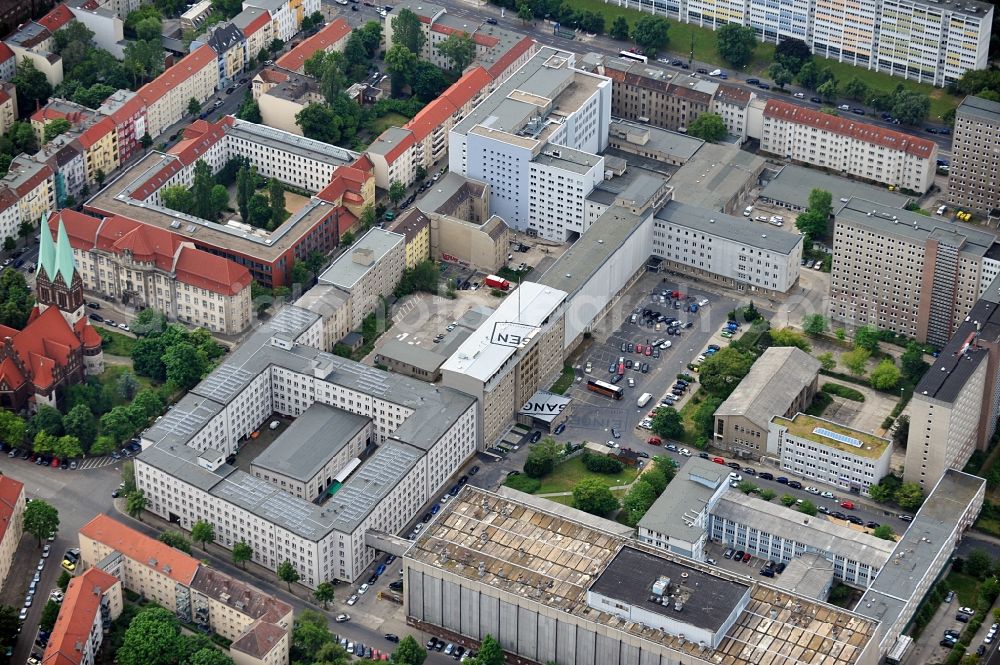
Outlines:
<svg viewBox="0 0 1000 665"><path fill-rule="evenodd" d="M466 487L417 537L403 557L410 625L565 665L878 662L874 621L521 497Z"/></svg>

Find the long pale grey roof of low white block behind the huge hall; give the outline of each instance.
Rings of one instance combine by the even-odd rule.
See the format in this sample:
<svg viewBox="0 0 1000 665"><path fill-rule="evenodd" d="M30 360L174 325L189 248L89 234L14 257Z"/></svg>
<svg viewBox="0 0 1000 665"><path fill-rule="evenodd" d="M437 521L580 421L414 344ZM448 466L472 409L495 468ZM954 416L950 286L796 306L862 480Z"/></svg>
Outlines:
<svg viewBox="0 0 1000 665"><path fill-rule="evenodd" d="M886 565L894 545L834 522L832 517L803 516L797 510L733 490L719 498L712 515L767 533L780 533L783 538L805 544L811 551L840 555L873 568Z"/></svg>

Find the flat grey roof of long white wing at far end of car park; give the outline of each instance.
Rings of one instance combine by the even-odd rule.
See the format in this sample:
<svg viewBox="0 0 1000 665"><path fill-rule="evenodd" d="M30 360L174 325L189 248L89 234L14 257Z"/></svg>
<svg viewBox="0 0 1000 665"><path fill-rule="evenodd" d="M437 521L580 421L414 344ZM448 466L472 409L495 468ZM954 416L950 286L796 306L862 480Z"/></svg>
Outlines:
<svg viewBox="0 0 1000 665"><path fill-rule="evenodd" d="M674 196L680 197L682 192L678 190L676 180L671 180L670 183L674 187ZM667 202L667 205L656 213L656 218L690 228L699 233L706 233L780 254L791 254L802 242L802 236L797 233L789 233L773 227L762 231L760 225L748 223L745 217L733 217L718 212L717 209L682 203L679 198Z"/></svg>

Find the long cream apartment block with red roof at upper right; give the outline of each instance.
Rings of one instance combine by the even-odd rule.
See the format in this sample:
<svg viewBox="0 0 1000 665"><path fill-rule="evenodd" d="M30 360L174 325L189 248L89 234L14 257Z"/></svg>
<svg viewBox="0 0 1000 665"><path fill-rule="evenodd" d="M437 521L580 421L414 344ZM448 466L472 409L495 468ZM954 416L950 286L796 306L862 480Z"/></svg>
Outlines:
<svg viewBox="0 0 1000 665"><path fill-rule="evenodd" d="M760 149L871 182L923 194L934 184L937 143L797 104L768 100Z"/></svg>

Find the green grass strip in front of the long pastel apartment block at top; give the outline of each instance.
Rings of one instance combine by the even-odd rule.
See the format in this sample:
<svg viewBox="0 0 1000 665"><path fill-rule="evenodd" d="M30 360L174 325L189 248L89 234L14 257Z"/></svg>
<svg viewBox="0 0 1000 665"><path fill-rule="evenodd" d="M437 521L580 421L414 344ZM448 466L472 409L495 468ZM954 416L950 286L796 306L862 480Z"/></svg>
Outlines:
<svg viewBox="0 0 1000 665"><path fill-rule="evenodd" d="M633 1L630 4L635 6L636 3ZM625 20L629 22L629 26L634 26L636 20L642 14L649 13L619 7L618 0L610 0L609 2L605 2L604 0L574 0L573 7L602 14L604 16L605 28L608 30L611 29L611 24L619 16L624 16ZM667 44L667 52L669 54L686 60L690 57L693 49L695 60L715 63L722 69L728 67L729 70L732 70L732 67L728 66L719 57L719 52L716 49L715 33L711 28L702 28L690 23L679 23L671 19L667 19L667 21L670 23L670 42ZM622 42L622 46L626 48L624 42ZM665 54L661 53L659 55L663 57ZM774 62L774 44L758 43L757 49L754 51L753 60L747 65L747 73L764 74L772 62ZM949 95L941 88L935 88L926 83L921 84L907 81L880 72L869 71L863 67L855 67L845 62L827 60L817 56L816 64L820 67L829 67L841 83L846 83L856 77L867 83L869 88L877 90L892 90L902 83L908 90L917 90L929 95L931 98L931 110L927 118L929 122L940 123L941 116L944 115L945 111L957 108L961 101L961 99Z"/></svg>

